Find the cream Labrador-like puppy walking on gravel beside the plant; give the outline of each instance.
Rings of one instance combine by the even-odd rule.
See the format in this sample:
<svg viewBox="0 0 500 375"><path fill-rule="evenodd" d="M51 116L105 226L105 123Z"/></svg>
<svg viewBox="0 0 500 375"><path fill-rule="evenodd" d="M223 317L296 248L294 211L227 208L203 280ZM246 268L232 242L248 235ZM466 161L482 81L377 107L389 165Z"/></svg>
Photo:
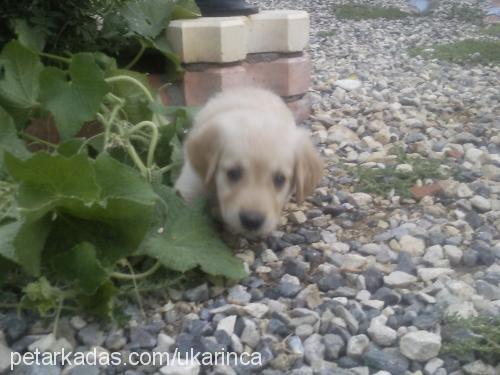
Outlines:
<svg viewBox="0 0 500 375"><path fill-rule="evenodd" d="M210 100L184 144L183 198L207 196L225 224L250 237L276 228L292 193L301 202L322 175L308 133L279 96L238 88Z"/></svg>

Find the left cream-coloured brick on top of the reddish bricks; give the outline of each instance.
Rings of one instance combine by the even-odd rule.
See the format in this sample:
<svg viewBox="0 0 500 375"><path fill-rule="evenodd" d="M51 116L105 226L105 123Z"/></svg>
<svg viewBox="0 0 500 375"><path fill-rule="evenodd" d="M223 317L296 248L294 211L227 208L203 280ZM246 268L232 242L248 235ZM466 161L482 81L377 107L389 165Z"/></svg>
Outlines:
<svg viewBox="0 0 500 375"><path fill-rule="evenodd" d="M248 27L244 17L200 17L171 21L167 40L184 63L244 60Z"/></svg>

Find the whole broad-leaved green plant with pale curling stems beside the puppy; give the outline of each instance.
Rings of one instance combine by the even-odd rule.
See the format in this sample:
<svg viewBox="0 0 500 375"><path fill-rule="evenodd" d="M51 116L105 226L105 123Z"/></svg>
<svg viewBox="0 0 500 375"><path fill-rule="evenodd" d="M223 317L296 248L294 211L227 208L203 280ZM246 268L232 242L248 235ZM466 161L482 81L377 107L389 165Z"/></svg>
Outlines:
<svg viewBox="0 0 500 375"><path fill-rule="evenodd" d="M121 283L159 269L245 277L205 203L168 186L191 111L163 108L144 75L101 53L51 58L61 66L19 41L0 54L0 268L15 304L109 316ZM34 118L61 142L30 134ZM99 130L76 137L89 121Z"/></svg>

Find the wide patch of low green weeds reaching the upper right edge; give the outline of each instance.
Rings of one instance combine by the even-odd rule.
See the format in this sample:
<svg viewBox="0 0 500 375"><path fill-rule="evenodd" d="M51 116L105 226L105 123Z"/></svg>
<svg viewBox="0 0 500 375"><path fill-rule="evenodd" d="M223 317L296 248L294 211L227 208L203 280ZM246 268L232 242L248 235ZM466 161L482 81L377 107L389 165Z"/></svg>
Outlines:
<svg viewBox="0 0 500 375"><path fill-rule="evenodd" d="M426 49L411 48L410 56L435 58L457 64L500 64L500 41L465 39L459 42L438 44Z"/></svg>

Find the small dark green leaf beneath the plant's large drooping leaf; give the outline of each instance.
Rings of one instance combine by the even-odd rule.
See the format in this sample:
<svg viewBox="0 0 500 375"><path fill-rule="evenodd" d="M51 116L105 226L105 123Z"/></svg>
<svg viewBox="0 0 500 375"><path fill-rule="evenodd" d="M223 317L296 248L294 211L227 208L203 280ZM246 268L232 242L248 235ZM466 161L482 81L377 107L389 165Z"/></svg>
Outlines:
<svg viewBox="0 0 500 375"><path fill-rule="evenodd" d="M97 259L94 245L89 242L81 242L71 250L57 255L53 265L64 279L76 282L88 295L94 294L109 279L108 272Z"/></svg>

